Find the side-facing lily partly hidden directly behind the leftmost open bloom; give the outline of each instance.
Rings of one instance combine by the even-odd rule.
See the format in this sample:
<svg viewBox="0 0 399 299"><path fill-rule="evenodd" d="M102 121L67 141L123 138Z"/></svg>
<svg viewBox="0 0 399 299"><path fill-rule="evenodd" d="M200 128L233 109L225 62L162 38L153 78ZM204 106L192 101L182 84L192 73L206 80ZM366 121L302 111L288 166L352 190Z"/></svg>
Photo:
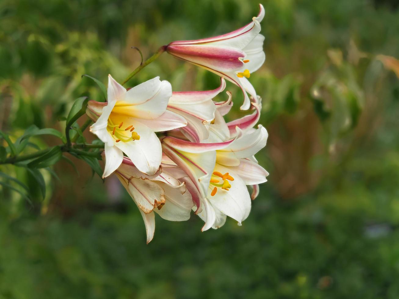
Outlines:
<svg viewBox="0 0 399 299"><path fill-rule="evenodd" d="M215 118L217 108L212 99L225 87L226 82L221 78L217 89L172 92L166 109L186 119L187 126L180 128L180 131L188 140L201 142L208 138L209 124Z"/></svg>

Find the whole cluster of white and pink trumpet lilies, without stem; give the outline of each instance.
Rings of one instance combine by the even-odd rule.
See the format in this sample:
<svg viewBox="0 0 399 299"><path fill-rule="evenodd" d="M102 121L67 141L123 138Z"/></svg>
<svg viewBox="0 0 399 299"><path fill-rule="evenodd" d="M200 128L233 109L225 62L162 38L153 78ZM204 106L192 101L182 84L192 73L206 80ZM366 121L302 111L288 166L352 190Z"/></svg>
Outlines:
<svg viewBox="0 0 399 299"><path fill-rule="evenodd" d="M254 128L261 98L247 79L265 61L263 16L260 5L259 15L239 30L164 47L218 74L216 89L172 92L168 81L156 77L126 90L109 75L108 101L89 101L87 114L95 121L90 130L105 144L103 177L115 173L126 188L144 219L147 242L154 236L154 212L183 221L193 210L205 222L203 231L223 226L227 216L241 225L258 184L267 181L269 173L254 157L267 141L266 129ZM231 93L223 102L213 100L225 79L243 90L241 109L251 114L225 121Z"/></svg>

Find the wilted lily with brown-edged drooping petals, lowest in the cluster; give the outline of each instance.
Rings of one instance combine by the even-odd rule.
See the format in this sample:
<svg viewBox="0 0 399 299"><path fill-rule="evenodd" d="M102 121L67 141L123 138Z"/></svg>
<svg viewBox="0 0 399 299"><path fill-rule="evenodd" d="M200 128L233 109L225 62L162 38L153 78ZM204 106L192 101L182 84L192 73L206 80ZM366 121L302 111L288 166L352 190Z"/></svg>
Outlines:
<svg viewBox="0 0 399 299"><path fill-rule="evenodd" d="M190 219L194 206L184 182L159 169L154 175L140 172L127 157L115 171L119 181L136 203L146 227L147 244L154 237L155 213L169 221Z"/></svg>

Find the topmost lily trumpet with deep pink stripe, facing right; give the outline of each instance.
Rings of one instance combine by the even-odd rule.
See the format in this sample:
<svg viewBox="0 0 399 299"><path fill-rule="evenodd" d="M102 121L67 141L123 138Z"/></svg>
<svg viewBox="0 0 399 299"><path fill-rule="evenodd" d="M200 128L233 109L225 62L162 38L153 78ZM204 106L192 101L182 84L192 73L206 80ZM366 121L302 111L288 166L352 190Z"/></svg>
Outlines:
<svg viewBox="0 0 399 299"><path fill-rule="evenodd" d="M244 94L241 110L250 108L247 92L256 100L256 91L247 78L265 62L265 37L259 34L265 10L262 4L259 8L258 16L238 30L205 39L173 41L166 46L169 54L208 69L240 87Z"/></svg>

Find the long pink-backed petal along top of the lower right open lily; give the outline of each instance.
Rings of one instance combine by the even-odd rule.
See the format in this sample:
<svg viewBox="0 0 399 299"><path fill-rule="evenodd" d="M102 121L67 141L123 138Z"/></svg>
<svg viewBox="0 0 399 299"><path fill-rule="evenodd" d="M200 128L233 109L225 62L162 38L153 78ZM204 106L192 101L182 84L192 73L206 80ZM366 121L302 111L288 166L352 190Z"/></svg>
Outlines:
<svg viewBox="0 0 399 299"><path fill-rule="evenodd" d="M205 153L207 151L227 148L233 140L215 143L196 143L167 136L162 140L162 142L177 150L187 151L189 153Z"/></svg>

